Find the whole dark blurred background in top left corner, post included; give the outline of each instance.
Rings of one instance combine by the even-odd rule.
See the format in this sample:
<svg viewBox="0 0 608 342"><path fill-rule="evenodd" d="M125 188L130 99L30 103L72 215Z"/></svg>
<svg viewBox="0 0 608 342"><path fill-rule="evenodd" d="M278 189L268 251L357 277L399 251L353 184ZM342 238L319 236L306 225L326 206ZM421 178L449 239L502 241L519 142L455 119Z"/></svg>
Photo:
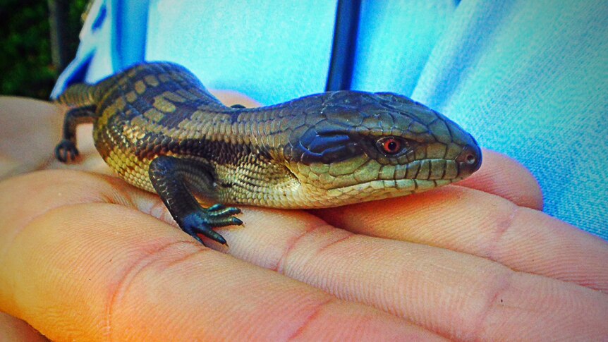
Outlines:
<svg viewBox="0 0 608 342"><path fill-rule="evenodd" d="M89 0L0 0L0 94L49 99Z"/></svg>

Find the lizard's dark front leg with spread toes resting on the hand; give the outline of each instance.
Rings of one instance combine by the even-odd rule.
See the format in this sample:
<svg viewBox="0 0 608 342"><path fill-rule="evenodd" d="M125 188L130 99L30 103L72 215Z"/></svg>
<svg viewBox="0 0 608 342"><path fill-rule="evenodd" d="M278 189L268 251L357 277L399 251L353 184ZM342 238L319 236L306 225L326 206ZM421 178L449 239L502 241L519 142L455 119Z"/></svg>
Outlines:
<svg viewBox="0 0 608 342"><path fill-rule="evenodd" d="M192 189L201 193L213 189L213 177L205 164L191 159L159 156L150 163L148 174L154 190L180 228L200 243L203 242L198 233L225 245L226 240L212 228L243 224L233 217L241 209L222 204L203 208L194 197Z"/></svg>

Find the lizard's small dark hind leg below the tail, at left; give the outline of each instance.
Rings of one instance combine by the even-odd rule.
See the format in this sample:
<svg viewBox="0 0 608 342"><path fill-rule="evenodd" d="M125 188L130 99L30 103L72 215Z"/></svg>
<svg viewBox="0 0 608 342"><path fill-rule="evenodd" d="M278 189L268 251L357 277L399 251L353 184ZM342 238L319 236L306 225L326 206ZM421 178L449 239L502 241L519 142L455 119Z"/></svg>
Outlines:
<svg viewBox="0 0 608 342"><path fill-rule="evenodd" d="M63 139L55 147L55 157L66 163L78 156L76 148L76 126L79 123L91 123L95 120L95 106L83 106L70 109L63 119Z"/></svg>

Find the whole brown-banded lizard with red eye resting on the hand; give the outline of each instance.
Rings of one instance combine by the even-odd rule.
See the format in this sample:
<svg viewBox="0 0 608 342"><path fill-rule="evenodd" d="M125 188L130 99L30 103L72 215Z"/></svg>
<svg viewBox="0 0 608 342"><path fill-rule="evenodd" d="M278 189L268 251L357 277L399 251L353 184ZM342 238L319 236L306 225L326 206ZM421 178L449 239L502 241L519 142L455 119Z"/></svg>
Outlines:
<svg viewBox="0 0 608 342"><path fill-rule="evenodd" d="M225 106L183 66L144 62L95 84L71 85L55 156L78 156L75 128L93 123L95 147L118 176L157 193L178 226L226 240L244 204L285 209L409 195L480 168L472 135L391 92L339 90L281 104ZM197 197L214 204L203 207ZM204 244L204 243L203 243Z"/></svg>

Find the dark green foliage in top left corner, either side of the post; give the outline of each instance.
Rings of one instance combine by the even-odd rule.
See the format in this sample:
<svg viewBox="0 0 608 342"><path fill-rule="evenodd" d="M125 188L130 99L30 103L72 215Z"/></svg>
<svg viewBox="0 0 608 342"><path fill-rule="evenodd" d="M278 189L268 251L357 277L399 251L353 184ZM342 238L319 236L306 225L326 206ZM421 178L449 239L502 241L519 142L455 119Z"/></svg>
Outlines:
<svg viewBox="0 0 608 342"><path fill-rule="evenodd" d="M72 56L87 0L70 1ZM51 61L46 0L0 0L0 94L48 99L58 71Z"/></svg>

